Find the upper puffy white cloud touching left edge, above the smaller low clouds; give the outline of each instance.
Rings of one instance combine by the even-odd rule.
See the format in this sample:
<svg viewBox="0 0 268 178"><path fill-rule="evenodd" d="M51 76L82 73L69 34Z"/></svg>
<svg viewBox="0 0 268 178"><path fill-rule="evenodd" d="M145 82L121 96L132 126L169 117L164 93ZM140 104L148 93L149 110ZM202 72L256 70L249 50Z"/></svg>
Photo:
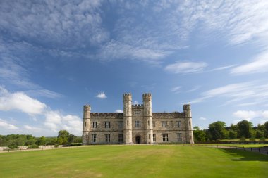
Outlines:
<svg viewBox="0 0 268 178"><path fill-rule="evenodd" d="M28 114L41 114L47 106L23 92L9 93L0 86L0 110L20 110Z"/></svg>

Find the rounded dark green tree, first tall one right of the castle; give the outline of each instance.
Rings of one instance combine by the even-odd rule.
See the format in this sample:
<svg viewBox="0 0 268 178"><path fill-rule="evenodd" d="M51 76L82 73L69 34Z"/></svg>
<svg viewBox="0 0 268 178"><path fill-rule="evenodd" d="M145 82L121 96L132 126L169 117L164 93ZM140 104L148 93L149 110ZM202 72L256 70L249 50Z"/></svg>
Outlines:
<svg viewBox="0 0 268 178"><path fill-rule="evenodd" d="M226 136L226 123L222 121L213 122L209 125L209 129L207 130L208 136L210 140L219 140L225 139Z"/></svg>

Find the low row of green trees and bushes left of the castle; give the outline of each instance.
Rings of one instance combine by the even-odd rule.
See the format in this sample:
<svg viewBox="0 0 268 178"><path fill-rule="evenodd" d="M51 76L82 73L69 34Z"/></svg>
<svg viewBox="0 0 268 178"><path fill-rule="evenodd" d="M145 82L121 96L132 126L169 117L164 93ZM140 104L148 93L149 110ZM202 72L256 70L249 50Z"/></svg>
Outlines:
<svg viewBox="0 0 268 178"><path fill-rule="evenodd" d="M38 148L39 145L69 145L72 143L82 143L82 138L70 134L66 130L60 130L58 136L55 137L35 137L31 134L0 135L0 146L9 148L18 148L18 146Z"/></svg>

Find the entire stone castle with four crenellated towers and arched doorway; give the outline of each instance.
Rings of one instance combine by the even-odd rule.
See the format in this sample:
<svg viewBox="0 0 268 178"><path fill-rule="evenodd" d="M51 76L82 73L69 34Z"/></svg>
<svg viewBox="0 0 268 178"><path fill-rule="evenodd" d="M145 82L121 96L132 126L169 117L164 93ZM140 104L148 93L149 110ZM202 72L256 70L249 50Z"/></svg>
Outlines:
<svg viewBox="0 0 268 178"><path fill-rule="evenodd" d="M152 113L152 94L142 98L133 105L131 94L123 94L123 113L90 113L85 105L83 144L193 144L190 104L183 113Z"/></svg>

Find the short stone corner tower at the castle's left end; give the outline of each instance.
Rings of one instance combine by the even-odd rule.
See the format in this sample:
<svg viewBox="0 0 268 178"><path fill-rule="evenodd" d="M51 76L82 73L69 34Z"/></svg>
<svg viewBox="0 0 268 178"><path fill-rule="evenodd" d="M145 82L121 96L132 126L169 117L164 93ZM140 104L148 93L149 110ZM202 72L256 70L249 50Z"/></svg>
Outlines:
<svg viewBox="0 0 268 178"><path fill-rule="evenodd" d="M89 144L90 139L90 105L84 106L84 114L83 114L83 134L82 134L82 142L83 144Z"/></svg>

